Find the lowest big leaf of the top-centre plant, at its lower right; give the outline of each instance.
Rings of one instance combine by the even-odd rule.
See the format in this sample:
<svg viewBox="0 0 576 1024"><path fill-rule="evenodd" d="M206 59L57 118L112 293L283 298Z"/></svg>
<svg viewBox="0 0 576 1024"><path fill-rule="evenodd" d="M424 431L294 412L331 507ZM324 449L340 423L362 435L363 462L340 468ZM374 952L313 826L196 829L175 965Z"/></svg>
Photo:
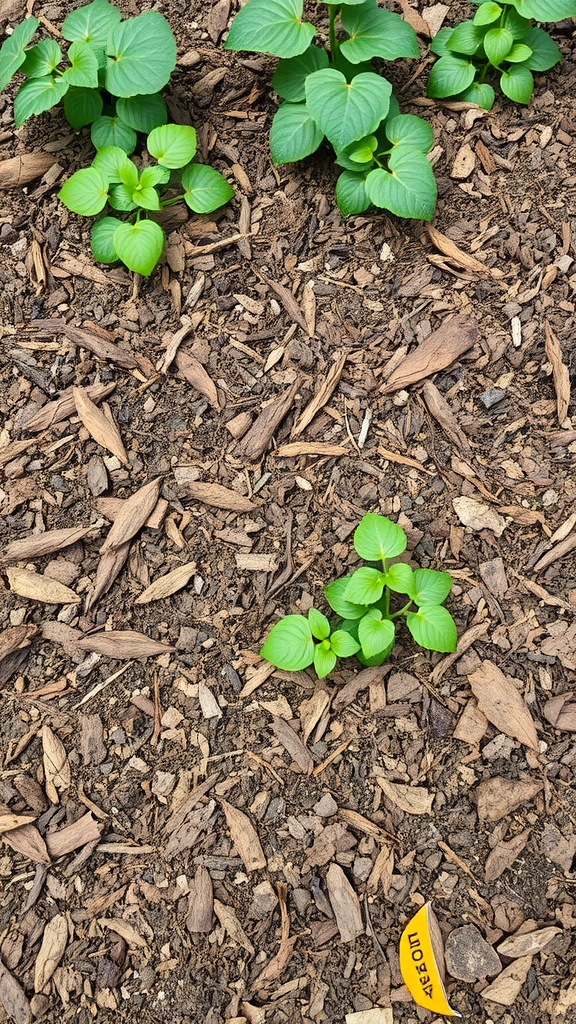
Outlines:
<svg viewBox="0 0 576 1024"><path fill-rule="evenodd" d="M438 195L434 171L423 153L397 145L388 170L376 168L366 178L366 191L374 206L397 217L431 220Z"/></svg>

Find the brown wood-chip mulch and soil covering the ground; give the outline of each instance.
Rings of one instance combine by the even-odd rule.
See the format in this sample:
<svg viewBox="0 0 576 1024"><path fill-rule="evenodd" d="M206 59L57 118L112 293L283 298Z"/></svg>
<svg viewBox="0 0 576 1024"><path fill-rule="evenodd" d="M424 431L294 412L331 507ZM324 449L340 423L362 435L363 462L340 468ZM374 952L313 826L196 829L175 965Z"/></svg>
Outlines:
<svg viewBox="0 0 576 1024"><path fill-rule="evenodd" d="M228 0L156 6L178 43L170 115L237 193L169 224L150 279L95 265L87 221L56 198L87 133L60 112L14 131L0 97L2 157L53 157L0 205L0 1021L431 1022L398 956L429 900L445 939L476 925L497 950L556 929L541 951L500 954L494 998L493 976L448 976L455 1011L570 1024L571 27L552 30L564 60L528 108L423 101L425 57L389 69L435 130L430 233L342 220L326 153L271 165L274 61L218 45ZM0 20L24 16L8 7ZM126 464L74 402L38 426L93 385ZM151 508L149 487L125 515L156 478ZM377 670L272 670L266 631L325 607L366 511L403 525L411 564L452 573L457 655L406 634ZM119 517L134 528L115 575L100 548ZM92 528L7 556L73 526ZM136 603L183 565L183 586ZM23 568L42 577L33 597ZM77 599L50 602L54 580Z"/></svg>

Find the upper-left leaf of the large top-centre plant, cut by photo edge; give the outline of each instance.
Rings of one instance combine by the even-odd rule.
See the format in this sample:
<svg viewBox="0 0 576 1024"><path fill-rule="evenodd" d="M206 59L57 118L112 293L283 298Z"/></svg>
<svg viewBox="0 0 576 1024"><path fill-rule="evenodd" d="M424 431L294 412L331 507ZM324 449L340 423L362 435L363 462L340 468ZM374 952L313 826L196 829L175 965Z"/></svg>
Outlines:
<svg viewBox="0 0 576 1024"><path fill-rule="evenodd" d="M315 36L302 12L303 0L248 0L231 25L224 49L295 57Z"/></svg>

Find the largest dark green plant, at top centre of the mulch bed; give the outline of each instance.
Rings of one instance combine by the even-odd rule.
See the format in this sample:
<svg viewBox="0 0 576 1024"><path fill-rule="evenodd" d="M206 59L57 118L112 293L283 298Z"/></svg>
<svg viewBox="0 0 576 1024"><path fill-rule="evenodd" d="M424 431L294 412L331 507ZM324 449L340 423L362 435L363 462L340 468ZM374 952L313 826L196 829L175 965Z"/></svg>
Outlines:
<svg viewBox="0 0 576 1024"><path fill-rule="evenodd" d="M426 153L429 125L402 115L374 57L419 56L413 29L377 0L327 0L328 48L313 42L302 0L248 0L225 47L280 57L272 85L284 102L272 123L276 164L315 153L326 139L341 167L336 202L344 216L370 205L399 217L429 220L437 186Z"/></svg>

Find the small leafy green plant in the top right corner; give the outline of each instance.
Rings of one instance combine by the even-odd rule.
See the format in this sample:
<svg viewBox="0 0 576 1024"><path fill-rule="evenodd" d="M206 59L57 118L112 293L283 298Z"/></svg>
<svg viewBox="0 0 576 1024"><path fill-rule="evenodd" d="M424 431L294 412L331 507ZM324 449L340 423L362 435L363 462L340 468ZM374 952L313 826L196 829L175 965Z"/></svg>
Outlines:
<svg viewBox="0 0 576 1024"><path fill-rule="evenodd" d="M430 49L434 65L428 96L455 96L489 111L495 99L491 78L505 96L528 103L534 90L533 72L548 71L562 59L553 39L532 25L576 15L576 0L470 0L475 16L455 29L441 29Z"/></svg>

